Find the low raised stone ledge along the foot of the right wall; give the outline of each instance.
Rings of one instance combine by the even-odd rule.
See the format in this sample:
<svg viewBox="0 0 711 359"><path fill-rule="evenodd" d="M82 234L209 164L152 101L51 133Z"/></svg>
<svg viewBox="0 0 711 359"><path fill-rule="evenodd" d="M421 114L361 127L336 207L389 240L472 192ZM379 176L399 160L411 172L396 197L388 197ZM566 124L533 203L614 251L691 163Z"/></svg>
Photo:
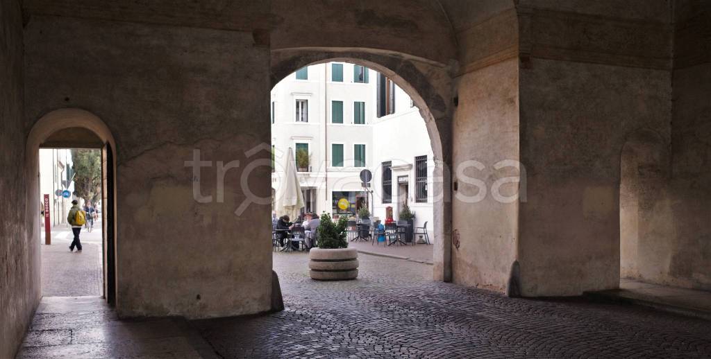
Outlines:
<svg viewBox="0 0 711 359"><path fill-rule="evenodd" d="M620 280L619 289L587 292L587 297L608 302L649 306L675 314L711 320L711 292Z"/></svg>

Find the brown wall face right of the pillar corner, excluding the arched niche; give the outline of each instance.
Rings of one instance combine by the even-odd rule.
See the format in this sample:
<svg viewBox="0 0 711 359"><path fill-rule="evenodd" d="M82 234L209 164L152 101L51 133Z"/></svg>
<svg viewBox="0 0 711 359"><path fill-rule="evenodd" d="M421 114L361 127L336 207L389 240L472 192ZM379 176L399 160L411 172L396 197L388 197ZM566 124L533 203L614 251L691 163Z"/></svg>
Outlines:
<svg viewBox="0 0 711 359"><path fill-rule="evenodd" d="M621 150L640 128L669 138L668 3L624 12L577 3L522 4L531 6L520 19L530 33L520 70L524 295L619 285Z"/></svg>

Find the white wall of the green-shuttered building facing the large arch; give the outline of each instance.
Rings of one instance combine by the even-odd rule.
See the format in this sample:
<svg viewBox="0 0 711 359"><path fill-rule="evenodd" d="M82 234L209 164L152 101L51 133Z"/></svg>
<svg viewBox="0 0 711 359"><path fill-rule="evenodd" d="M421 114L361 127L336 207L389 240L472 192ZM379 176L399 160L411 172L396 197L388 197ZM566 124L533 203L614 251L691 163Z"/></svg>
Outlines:
<svg viewBox="0 0 711 359"><path fill-rule="evenodd" d="M272 187L282 182L284 161L289 148L296 150L296 143L309 145L310 169L299 172L301 187L317 190L315 210L317 213L332 213L333 191L362 192L358 179L360 170L373 165L373 118L375 118L375 79L377 72L369 70L368 83L353 82L353 64L343 65L343 82L332 81L332 63L308 66L308 79L296 79L295 74L282 79L272 89L274 124L272 145L277 171L272 175ZM296 99L307 99L309 122L297 123ZM332 122L331 101L343 101L343 124ZM353 102L364 101L365 124L353 123ZM333 167L331 145L343 144L343 167ZM354 167L353 145L365 145L366 167ZM295 153L295 152L294 152ZM278 199L275 200L275 204ZM277 214L281 216L281 214Z"/></svg>

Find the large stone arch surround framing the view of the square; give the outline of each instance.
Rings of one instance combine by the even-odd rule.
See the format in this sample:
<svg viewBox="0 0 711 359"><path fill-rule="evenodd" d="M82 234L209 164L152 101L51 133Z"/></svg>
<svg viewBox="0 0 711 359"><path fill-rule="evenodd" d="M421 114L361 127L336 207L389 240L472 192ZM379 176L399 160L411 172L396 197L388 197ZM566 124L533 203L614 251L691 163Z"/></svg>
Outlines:
<svg viewBox="0 0 711 359"><path fill-rule="evenodd" d="M434 280L451 281L451 77L448 67L437 62L384 53L380 50L288 49L273 50L271 85L307 65L348 62L385 74L412 98L424 118L434 154L433 190L435 236Z"/></svg>

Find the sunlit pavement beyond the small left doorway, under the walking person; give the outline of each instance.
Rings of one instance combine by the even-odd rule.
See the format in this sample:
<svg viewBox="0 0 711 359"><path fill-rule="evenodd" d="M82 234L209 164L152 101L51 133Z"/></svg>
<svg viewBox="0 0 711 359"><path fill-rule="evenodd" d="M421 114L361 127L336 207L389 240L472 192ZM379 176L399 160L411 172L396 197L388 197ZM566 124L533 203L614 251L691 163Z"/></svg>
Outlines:
<svg viewBox="0 0 711 359"><path fill-rule="evenodd" d="M100 225L99 225L100 226ZM69 251L73 234L70 228L52 232L52 244L42 238L42 295L72 297L103 294L101 230L95 226L79 235L82 253Z"/></svg>

